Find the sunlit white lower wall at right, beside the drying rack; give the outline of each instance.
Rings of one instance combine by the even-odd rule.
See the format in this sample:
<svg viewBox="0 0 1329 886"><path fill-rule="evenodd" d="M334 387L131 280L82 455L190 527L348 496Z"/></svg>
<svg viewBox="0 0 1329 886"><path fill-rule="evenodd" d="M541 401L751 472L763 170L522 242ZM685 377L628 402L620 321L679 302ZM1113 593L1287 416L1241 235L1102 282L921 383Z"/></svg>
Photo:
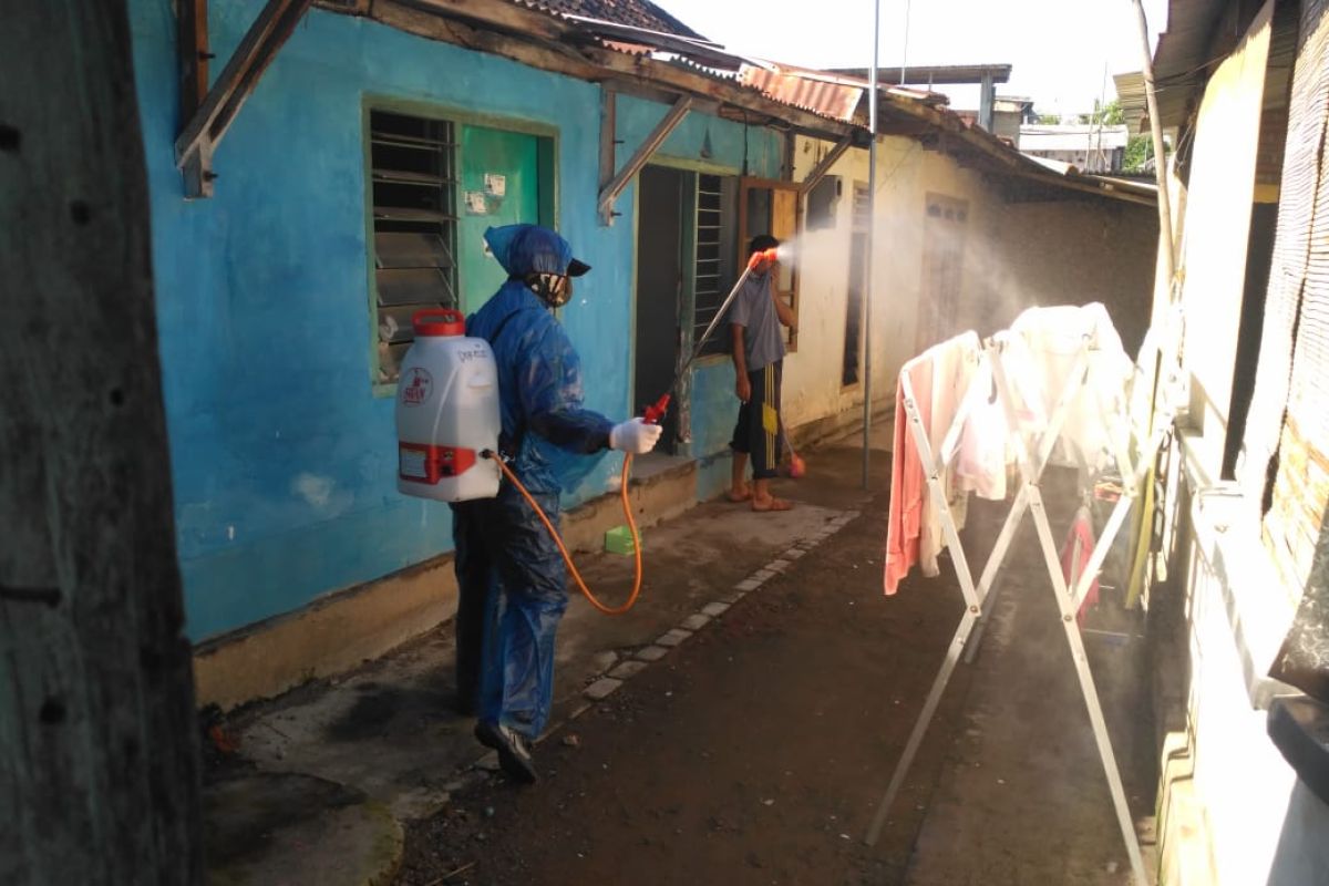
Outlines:
<svg viewBox="0 0 1329 886"><path fill-rule="evenodd" d="M1293 886L1329 871L1329 805L1302 785L1269 740L1268 704L1293 692L1269 680L1294 611L1260 542L1259 502L1212 494L1204 449L1183 437L1168 502L1176 530L1168 580L1151 591L1156 679L1164 705L1159 784L1159 883ZM1163 692L1168 699L1174 693Z"/></svg>

